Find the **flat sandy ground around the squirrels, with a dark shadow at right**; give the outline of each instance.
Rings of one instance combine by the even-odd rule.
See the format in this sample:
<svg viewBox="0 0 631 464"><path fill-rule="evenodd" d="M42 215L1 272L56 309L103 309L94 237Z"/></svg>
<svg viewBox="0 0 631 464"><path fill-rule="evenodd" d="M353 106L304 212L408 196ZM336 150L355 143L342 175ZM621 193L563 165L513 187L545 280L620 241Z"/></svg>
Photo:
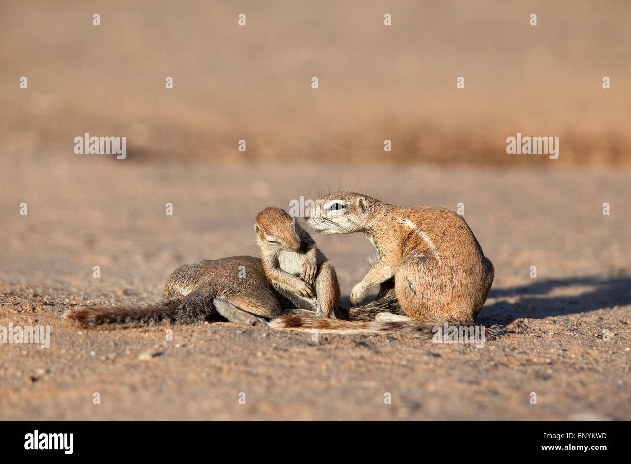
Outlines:
<svg viewBox="0 0 631 464"><path fill-rule="evenodd" d="M47 153L3 162L0 326L50 326L51 346L0 345L1 419L631 419L628 171L143 165ZM463 203L496 268L478 322L509 333L476 349L387 336L315 342L229 323L86 331L59 318L88 302L156 299L183 263L256 255L257 211L329 189ZM372 246L360 235L316 238L348 298Z"/></svg>

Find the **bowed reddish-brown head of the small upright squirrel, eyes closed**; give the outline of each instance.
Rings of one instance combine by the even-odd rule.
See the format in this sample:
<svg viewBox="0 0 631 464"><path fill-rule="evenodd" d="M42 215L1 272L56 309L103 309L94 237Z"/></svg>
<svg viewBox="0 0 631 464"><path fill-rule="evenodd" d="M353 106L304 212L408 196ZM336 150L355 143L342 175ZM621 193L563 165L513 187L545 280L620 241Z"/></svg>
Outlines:
<svg viewBox="0 0 631 464"><path fill-rule="evenodd" d="M256 216L254 232L261 247L272 246L292 251L300 249L296 220L276 206L269 206Z"/></svg>

